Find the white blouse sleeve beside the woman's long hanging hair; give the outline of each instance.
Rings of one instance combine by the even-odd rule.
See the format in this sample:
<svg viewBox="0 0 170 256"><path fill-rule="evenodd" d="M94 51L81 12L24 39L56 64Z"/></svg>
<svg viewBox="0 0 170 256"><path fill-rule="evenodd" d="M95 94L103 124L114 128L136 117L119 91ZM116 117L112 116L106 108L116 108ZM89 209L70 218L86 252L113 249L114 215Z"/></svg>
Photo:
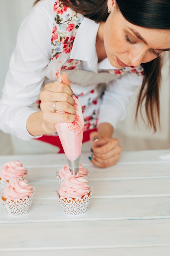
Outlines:
<svg viewBox="0 0 170 256"><path fill-rule="evenodd" d="M142 79L143 76L128 73L108 83L99 110L98 125L106 122L116 128L117 122L125 118L126 106L141 86Z"/></svg>

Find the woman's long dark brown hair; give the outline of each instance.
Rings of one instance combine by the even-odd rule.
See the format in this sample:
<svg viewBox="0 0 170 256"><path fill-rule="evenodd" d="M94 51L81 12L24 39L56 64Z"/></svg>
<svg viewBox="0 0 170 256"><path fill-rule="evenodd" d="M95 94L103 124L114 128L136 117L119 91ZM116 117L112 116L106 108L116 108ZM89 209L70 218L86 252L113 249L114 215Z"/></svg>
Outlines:
<svg viewBox="0 0 170 256"><path fill-rule="evenodd" d="M40 0L35 1L34 4ZM106 21L107 0L62 0L63 4L95 22ZM170 29L170 0L117 0L117 8L130 23L151 29ZM144 79L137 98L135 119L145 102L147 124L154 132L160 128L159 91L161 81L161 58L142 63ZM142 116L143 119L143 116ZM144 120L144 119L143 119Z"/></svg>

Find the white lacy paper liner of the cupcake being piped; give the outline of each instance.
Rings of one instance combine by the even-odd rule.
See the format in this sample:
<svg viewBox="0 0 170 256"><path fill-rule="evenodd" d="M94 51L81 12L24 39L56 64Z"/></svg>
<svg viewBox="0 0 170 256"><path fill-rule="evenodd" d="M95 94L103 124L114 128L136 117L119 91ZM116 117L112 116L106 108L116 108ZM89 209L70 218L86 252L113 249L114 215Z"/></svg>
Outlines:
<svg viewBox="0 0 170 256"><path fill-rule="evenodd" d="M90 204L91 195L93 193L93 187L90 186L89 195L84 195L82 198L64 198L59 195L58 189L55 191L57 198L60 202L60 205L63 211L68 215L79 215L85 213L88 210Z"/></svg>

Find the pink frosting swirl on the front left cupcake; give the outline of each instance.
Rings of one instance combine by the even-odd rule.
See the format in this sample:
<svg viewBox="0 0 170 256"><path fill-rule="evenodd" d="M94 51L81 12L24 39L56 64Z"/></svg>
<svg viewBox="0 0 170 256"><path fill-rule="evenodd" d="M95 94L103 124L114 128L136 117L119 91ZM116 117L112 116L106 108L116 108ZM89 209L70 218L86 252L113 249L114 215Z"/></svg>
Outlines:
<svg viewBox="0 0 170 256"><path fill-rule="evenodd" d="M22 199L25 196L29 196L33 193L33 187L27 184L27 180L17 180L14 178L7 186L4 187L3 197L15 200Z"/></svg>

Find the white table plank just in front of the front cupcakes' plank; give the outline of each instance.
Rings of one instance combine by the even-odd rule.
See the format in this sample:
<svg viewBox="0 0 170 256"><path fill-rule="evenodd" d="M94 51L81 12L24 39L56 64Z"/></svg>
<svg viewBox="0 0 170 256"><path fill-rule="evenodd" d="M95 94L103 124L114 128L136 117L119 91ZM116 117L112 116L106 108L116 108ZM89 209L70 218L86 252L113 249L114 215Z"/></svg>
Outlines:
<svg viewBox="0 0 170 256"><path fill-rule="evenodd" d="M170 220L72 221L2 224L0 245L8 251L50 249L88 249L169 245ZM12 241L9 237L13 235ZM31 235L32 234L32 235ZM3 249L1 250L3 252Z"/></svg>

